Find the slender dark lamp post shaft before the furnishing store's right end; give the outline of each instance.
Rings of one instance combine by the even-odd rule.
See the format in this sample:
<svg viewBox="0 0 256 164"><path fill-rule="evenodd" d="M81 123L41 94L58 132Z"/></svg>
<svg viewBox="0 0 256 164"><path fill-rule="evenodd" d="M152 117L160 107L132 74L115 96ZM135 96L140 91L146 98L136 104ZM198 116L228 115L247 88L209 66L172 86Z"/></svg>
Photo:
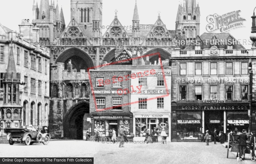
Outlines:
<svg viewBox="0 0 256 164"><path fill-rule="evenodd" d="M249 83L249 134L252 132L252 59L249 60L249 76L250 76L250 83Z"/></svg>

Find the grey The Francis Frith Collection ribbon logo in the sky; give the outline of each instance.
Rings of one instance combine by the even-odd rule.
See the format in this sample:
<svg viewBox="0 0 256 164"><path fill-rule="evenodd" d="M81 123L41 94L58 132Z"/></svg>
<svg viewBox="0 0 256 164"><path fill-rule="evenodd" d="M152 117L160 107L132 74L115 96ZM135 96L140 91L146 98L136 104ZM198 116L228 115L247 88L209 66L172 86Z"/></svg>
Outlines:
<svg viewBox="0 0 256 164"><path fill-rule="evenodd" d="M208 32L217 32L226 33L230 30L239 27L245 27L243 24L244 18L241 18L239 12L241 10L228 12L223 15L208 15L206 20L209 24L206 26Z"/></svg>

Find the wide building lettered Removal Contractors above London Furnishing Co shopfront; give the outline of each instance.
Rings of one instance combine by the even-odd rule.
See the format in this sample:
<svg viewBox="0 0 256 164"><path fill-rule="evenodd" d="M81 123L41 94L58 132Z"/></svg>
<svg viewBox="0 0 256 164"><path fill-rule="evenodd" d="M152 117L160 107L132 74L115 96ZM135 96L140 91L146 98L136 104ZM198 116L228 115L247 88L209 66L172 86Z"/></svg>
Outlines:
<svg viewBox="0 0 256 164"><path fill-rule="evenodd" d="M206 34L197 39L230 39L230 34ZM204 40L202 40L202 38ZM215 44L216 45L216 44ZM236 47L236 49L232 49ZM249 58L255 50L241 45L191 46L173 50L172 141L201 141L213 135L249 127ZM252 62L255 71L255 63ZM253 88L254 93L254 88ZM253 96L253 100L255 96ZM255 133L253 102L252 132Z"/></svg>

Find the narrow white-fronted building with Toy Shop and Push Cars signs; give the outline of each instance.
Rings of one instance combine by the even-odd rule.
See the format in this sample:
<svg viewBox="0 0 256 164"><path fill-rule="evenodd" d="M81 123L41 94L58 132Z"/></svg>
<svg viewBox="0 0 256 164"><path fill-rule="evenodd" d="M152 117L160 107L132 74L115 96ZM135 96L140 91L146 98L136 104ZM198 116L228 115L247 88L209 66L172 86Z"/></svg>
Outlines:
<svg viewBox="0 0 256 164"><path fill-rule="evenodd" d="M156 62L155 62L156 63ZM148 72L148 74L147 74ZM165 129L170 141L171 70L169 61L161 65L142 65L132 70L131 112L135 137L145 137L145 130ZM135 87L136 86L136 87Z"/></svg>

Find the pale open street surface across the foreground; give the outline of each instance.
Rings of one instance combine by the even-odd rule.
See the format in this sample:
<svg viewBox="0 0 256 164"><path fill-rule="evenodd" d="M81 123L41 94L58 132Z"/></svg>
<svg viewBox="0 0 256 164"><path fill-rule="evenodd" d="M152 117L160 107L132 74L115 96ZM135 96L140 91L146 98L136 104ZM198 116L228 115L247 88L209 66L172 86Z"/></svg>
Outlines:
<svg viewBox="0 0 256 164"><path fill-rule="evenodd" d="M236 161L236 154L230 153L226 158L226 149L223 145L197 142L169 142L163 145L155 144L125 144L119 148L116 144L102 144L90 141L50 141L48 145L33 144L0 144L1 157L94 157L95 164L234 164L255 163L246 154L243 162Z"/></svg>

